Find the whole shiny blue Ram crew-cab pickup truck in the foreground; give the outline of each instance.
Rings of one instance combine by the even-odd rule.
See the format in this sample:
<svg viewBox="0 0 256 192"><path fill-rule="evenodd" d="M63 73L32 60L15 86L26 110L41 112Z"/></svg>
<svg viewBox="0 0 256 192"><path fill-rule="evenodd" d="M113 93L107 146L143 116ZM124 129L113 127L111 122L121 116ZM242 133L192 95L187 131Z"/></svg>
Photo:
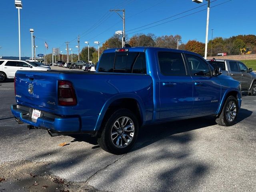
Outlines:
<svg viewBox="0 0 256 192"><path fill-rule="evenodd" d="M51 136L92 134L113 154L128 152L141 126L215 116L235 123L240 83L200 55L167 48L105 50L95 73L17 71L11 106L18 123Z"/></svg>

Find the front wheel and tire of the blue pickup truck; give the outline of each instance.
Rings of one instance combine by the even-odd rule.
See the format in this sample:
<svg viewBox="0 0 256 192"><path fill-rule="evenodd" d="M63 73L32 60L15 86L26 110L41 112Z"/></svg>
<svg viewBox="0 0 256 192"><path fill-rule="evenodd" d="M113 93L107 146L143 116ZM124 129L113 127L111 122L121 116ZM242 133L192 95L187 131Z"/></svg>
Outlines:
<svg viewBox="0 0 256 192"><path fill-rule="evenodd" d="M220 116L216 118L216 123L222 126L232 126L235 124L238 114L238 102L234 96L229 96L222 108Z"/></svg>

